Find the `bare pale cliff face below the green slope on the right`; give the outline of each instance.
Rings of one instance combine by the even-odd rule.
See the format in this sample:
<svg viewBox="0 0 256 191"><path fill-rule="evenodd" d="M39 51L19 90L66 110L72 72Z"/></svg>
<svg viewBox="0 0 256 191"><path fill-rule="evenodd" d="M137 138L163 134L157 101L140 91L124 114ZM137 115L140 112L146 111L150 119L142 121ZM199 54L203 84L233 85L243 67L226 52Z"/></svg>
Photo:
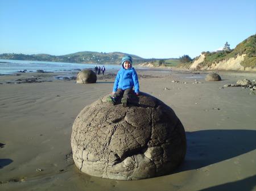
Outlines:
<svg viewBox="0 0 256 191"><path fill-rule="evenodd" d="M246 54L238 55L236 58L229 58L229 60L223 60L220 62L213 62L212 65L203 66L201 63L204 61L205 56L201 54L200 57L195 60L189 70L237 70L237 71L256 71L256 68L244 67L241 62L245 59Z"/></svg>

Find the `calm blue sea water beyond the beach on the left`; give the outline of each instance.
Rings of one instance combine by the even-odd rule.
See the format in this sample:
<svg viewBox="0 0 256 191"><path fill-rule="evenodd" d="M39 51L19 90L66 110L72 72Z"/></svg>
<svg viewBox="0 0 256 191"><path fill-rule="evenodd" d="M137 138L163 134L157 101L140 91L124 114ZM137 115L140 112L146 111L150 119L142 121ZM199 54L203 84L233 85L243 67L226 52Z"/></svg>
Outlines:
<svg viewBox="0 0 256 191"><path fill-rule="evenodd" d="M45 61L23 61L23 60L3 60L0 59L0 74L13 74L18 71L36 72L44 70L46 72L73 71L77 69L94 69L96 64L89 63L66 63L66 62L45 62ZM103 65L100 65L103 66ZM121 68L121 65L104 65L106 71L114 71Z"/></svg>

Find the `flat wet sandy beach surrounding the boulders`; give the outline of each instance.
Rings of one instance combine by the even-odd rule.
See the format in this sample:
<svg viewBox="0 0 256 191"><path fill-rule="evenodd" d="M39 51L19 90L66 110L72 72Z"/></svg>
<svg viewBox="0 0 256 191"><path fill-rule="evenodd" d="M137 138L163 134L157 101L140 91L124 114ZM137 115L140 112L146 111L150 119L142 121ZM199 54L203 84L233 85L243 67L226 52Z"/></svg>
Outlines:
<svg viewBox="0 0 256 191"><path fill-rule="evenodd" d="M114 74L94 84L53 73L0 76L0 190L256 190L256 95L223 87L256 73L137 70L140 90L174 109L187 136L183 164L170 175L136 181L81 173L72 159L71 133L79 112L110 94ZM40 83L26 82L34 78ZM18 80L20 79L20 80ZM23 80L22 80L23 79Z"/></svg>

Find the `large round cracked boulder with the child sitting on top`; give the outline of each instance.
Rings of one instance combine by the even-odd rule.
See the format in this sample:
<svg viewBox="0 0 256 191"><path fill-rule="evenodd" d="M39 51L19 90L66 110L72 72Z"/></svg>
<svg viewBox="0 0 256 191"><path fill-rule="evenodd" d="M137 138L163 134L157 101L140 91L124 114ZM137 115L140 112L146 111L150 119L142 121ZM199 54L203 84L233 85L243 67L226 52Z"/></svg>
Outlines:
<svg viewBox="0 0 256 191"><path fill-rule="evenodd" d="M80 171L116 180L170 174L186 152L184 127L175 112L143 92L136 106L107 96L86 106L73 123L73 160Z"/></svg>

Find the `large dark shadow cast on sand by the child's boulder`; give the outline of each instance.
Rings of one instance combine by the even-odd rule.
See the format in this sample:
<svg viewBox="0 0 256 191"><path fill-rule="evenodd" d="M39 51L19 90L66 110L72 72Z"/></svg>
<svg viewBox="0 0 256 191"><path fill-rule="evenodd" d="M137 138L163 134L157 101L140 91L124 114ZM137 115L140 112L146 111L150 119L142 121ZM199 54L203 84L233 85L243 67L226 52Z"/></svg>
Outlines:
<svg viewBox="0 0 256 191"><path fill-rule="evenodd" d="M256 148L255 130L200 130L186 132L187 154L178 172L205 167Z"/></svg>

